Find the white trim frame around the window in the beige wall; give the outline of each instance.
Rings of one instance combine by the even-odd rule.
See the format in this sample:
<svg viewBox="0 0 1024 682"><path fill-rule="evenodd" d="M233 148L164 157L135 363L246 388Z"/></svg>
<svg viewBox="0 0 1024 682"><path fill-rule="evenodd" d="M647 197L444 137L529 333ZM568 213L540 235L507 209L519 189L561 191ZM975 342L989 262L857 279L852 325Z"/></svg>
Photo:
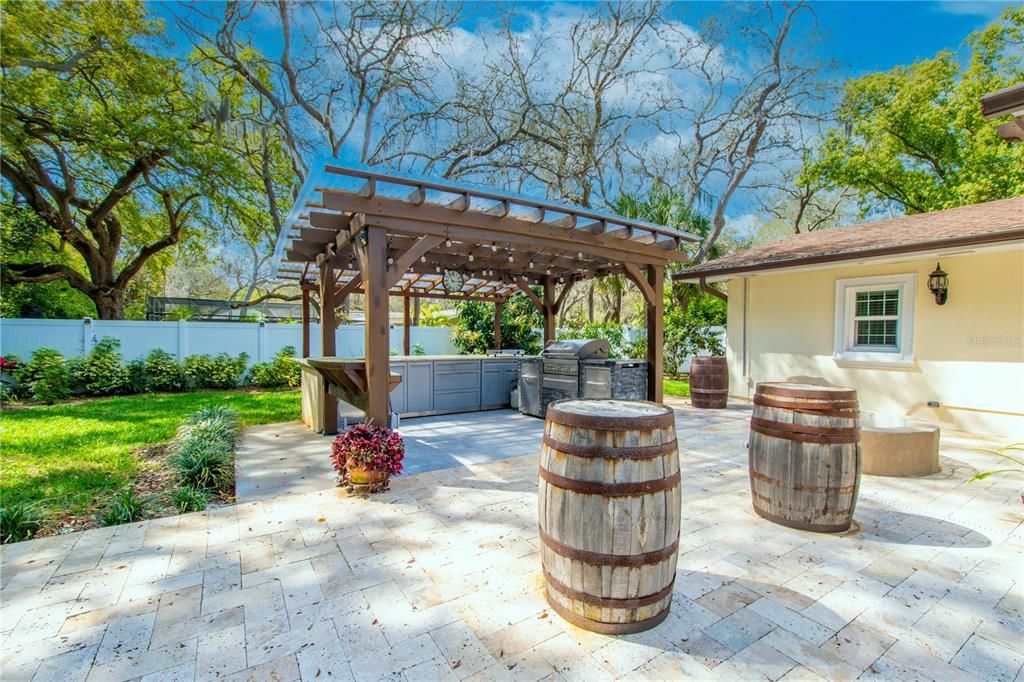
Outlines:
<svg viewBox="0 0 1024 682"><path fill-rule="evenodd" d="M913 365L913 301L918 275L884 274L836 281L836 329L833 358L838 365L911 367ZM854 302L858 291L899 289L899 331L896 350L858 350L853 347Z"/></svg>

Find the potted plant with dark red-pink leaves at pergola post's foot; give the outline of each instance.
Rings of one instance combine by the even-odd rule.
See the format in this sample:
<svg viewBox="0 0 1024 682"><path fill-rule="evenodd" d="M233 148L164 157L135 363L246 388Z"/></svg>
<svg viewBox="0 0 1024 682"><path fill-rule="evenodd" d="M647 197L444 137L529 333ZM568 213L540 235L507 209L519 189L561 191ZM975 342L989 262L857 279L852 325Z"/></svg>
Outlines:
<svg viewBox="0 0 1024 682"><path fill-rule="evenodd" d="M388 479L401 473L404 456L401 436L385 426L357 424L331 444L331 461L341 484L371 493L386 489Z"/></svg>

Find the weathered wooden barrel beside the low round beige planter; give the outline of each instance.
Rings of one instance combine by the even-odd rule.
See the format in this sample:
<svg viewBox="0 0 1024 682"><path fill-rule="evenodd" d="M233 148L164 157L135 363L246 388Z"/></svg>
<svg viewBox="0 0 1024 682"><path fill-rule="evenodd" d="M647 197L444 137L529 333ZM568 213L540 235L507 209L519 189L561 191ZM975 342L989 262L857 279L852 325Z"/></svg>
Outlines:
<svg viewBox="0 0 1024 682"><path fill-rule="evenodd" d="M848 530L860 486L857 391L758 384L750 468L759 515L802 530Z"/></svg>

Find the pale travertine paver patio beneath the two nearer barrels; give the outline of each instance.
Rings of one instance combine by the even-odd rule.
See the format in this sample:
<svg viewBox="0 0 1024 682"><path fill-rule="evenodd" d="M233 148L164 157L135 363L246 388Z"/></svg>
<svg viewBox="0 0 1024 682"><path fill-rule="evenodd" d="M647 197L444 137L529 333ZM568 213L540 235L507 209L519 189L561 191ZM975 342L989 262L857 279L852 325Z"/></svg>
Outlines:
<svg viewBox="0 0 1024 682"><path fill-rule="evenodd" d="M534 455L2 550L8 680L1021 679L1019 482L946 434L843 537L751 511L749 412L678 410L672 614L627 637L542 594ZM532 445L529 446L532 450Z"/></svg>

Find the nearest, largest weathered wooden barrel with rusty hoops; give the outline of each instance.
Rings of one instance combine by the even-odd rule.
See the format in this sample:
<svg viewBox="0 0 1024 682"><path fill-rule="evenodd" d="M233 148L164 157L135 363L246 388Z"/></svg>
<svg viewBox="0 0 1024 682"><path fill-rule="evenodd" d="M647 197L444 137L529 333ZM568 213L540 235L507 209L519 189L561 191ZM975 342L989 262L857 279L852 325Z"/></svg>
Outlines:
<svg viewBox="0 0 1024 682"><path fill-rule="evenodd" d="M548 408L538 513L548 603L605 634L669 614L681 512L670 408L560 400Z"/></svg>

